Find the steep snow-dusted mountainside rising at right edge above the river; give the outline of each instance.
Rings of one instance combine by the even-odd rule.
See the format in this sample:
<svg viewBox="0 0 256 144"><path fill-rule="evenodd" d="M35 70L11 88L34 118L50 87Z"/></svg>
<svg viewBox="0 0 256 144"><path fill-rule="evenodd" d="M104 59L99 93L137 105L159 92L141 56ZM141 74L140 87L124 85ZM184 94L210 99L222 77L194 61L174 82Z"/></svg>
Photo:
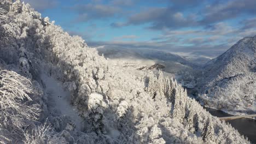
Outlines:
<svg viewBox="0 0 256 144"><path fill-rule="evenodd" d="M201 82L206 105L229 113L255 113L256 36L238 41L208 62Z"/></svg>

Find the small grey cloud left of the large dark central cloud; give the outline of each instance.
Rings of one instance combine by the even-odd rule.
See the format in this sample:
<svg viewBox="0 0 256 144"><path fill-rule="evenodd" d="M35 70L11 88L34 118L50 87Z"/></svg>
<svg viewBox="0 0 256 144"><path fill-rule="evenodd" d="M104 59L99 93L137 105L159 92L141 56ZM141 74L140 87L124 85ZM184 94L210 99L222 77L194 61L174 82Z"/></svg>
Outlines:
<svg viewBox="0 0 256 144"><path fill-rule="evenodd" d="M121 13L120 8L104 4L75 5L71 9L79 14L76 19L77 22L114 17Z"/></svg>

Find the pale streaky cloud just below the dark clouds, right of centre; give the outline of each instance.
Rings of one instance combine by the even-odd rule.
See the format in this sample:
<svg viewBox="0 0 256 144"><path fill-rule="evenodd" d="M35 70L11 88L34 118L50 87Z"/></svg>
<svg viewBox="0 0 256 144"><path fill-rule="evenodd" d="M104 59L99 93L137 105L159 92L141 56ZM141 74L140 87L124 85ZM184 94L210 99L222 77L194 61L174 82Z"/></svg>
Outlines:
<svg viewBox="0 0 256 144"><path fill-rule="evenodd" d="M177 43L182 45L225 43L225 40L230 38L230 34L235 32L238 32L237 28L220 22L216 23L215 25L211 25L206 29L166 30L152 40L161 41L162 43Z"/></svg>

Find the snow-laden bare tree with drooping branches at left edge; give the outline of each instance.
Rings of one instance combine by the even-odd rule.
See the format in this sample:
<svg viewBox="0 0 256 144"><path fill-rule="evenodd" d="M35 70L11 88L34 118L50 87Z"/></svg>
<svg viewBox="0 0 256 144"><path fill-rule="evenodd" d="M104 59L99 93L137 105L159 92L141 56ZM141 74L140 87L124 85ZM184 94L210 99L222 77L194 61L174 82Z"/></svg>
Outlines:
<svg viewBox="0 0 256 144"><path fill-rule="evenodd" d="M22 136L24 126L39 118L39 105L33 104L31 94L36 94L36 91L26 77L14 71L0 71L0 134L3 137L8 135L7 131Z"/></svg>

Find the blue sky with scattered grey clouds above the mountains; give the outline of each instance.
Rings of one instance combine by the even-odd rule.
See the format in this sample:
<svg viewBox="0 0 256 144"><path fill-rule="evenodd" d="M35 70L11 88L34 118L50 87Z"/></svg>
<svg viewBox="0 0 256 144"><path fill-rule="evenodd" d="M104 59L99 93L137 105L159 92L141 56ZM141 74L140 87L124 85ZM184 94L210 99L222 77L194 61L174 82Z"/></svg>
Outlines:
<svg viewBox="0 0 256 144"><path fill-rule="evenodd" d="M256 35L255 0L25 0L90 47L214 58Z"/></svg>

